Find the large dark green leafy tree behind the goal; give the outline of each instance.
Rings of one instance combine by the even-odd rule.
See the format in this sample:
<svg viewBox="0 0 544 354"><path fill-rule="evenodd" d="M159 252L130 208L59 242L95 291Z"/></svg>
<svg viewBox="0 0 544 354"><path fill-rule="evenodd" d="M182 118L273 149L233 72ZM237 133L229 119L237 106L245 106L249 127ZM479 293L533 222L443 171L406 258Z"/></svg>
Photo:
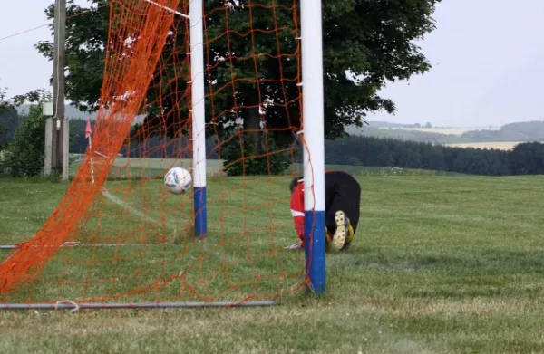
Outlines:
<svg viewBox="0 0 544 354"><path fill-rule="evenodd" d="M422 39L434 29L432 13L438 2L440 0L323 0L326 138L342 136L345 125L362 126L368 112L386 110L392 113L395 110L393 101L377 94L385 82L406 80L431 68L413 41ZM81 110L98 109L105 58L103 48L107 47L108 3L92 0L90 10L74 5L73 0L68 1L66 98ZM270 0L209 0L204 3L205 13L209 14L205 23L208 38L205 51L210 58L205 85L208 93L213 87L212 81L219 86L220 83L232 82L233 78L255 78L237 81L215 94L213 109L207 101L207 120L215 123L209 126L210 131L217 129L219 139L224 139L237 132L233 122L241 117L244 129L255 133L243 134L239 140L247 142L248 147L238 150L251 148L253 151L250 153L258 155L265 139L278 148L287 147L293 141L293 130L300 127L300 108L296 100L299 89L295 81L297 63L281 56L281 59L254 56L254 52L273 55L296 53L298 42L292 28L292 10L287 6L258 6L270 5ZM224 11L210 12L226 5L229 8L228 24ZM53 5L45 12L48 18L53 18ZM180 100L186 98L172 94L184 91L187 85L187 69L180 63L187 59L185 31L189 27L180 18L174 27L177 35L166 39L158 71L151 79L147 111L144 112L145 129L142 129L170 137L178 131L172 127L183 125L180 117L183 120L189 116L187 111L174 110L180 106ZM231 32L219 35L225 33L225 28ZM251 31L256 28L268 31ZM36 47L47 58L53 58L53 43L41 42ZM254 59L236 61L231 65L232 53ZM282 77L293 81L279 83ZM267 107L266 113L262 114L259 109L263 108L258 107L258 103L265 100L274 101L277 105ZM238 111L223 113L226 108L235 106ZM165 111L171 114L160 113ZM266 131L257 133L261 129L261 120L264 120ZM134 135L138 136L142 130Z"/></svg>

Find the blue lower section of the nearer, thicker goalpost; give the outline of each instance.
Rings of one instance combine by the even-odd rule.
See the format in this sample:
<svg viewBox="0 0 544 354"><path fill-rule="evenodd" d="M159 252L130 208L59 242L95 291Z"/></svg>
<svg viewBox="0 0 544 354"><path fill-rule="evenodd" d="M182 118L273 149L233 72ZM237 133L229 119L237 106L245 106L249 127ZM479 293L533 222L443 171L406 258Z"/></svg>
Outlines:
<svg viewBox="0 0 544 354"><path fill-rule="evenodd" d="M306 275L310 279L311 291L325 292L325 211L305 213Z"/></svg>

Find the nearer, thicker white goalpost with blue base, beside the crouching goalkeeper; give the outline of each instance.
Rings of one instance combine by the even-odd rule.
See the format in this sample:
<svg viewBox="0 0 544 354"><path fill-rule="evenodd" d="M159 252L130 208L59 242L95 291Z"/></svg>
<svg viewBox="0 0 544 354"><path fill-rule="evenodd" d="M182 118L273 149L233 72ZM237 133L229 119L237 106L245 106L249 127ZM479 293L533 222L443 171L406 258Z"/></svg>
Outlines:
<svg viewBox="0 0 544 354"><path fill-rule="evenodd" d="M325 292L325 135L321 0L301 0L306 274Z"/></svg>

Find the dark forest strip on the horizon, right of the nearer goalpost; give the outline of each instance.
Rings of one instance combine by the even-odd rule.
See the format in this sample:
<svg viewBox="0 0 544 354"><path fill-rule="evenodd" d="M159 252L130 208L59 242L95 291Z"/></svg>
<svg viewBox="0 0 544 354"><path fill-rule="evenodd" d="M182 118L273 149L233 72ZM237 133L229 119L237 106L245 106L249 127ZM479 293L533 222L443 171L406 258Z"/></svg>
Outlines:
<svg viewBox="0 0 544 354"><path fill-rule="evenodd" d="M535 175L544 174L544 144L521 143L512 151L503 151L348 137L325 143L325 163L432 169L485 176Z"/></svg>

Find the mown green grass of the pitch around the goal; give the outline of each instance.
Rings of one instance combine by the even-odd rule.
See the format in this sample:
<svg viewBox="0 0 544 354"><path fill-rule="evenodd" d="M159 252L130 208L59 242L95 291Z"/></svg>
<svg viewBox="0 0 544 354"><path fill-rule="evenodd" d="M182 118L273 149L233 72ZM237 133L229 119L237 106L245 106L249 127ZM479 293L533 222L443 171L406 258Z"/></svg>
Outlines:
<svg viewBox="0 0 544 354"><path fill-rule="evenodd" d="M277 307L255 309L3 311L0 352L544 352L544 177L378 173L358 180L361 226L348 253L327 256L323 299L291 293ZM247 193L236 192L239 182L212 180L209 196L232 190L230 207L257 206L263 191L288 199L287 177L248 183ZM121 197L126 183L110 182L109 188ZM140 197L152 196L160 183L152 182ZM65 189L0 180L0 243L37 232ZM102 210L118 210L104 203ZM211 215L216 207L210 202ZM264 224L270 210L277 225L286 225L277 234L279 245L295 242L287 202L248 213ZM150 205L148 212L157 210ZM228 232L240 232L242 214L226 223ZM254 242L259 248L267 241ZM0 258L5 255L0 251ZM98 260L108 255L95 254ZM299 256L286 254L282 265L296 273ZM67 266L63 259L53 264L56 271ZM273 269L269 263L253 266ZM42 290L54 297L63 289L43 282L34 285L34 296Z"/></svg>

